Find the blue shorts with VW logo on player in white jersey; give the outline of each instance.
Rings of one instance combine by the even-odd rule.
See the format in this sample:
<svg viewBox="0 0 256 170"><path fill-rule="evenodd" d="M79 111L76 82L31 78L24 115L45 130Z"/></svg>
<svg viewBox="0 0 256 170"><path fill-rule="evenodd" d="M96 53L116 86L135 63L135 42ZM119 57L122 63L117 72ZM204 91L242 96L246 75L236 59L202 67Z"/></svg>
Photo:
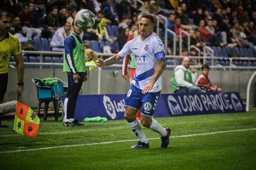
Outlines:
<svg viewBox="0 0 256 170"><path fill-rule="evenodd" d="M145 94L142 94L141 92L141 89L138 89L132 84L126 96L124 106L132 107L138 110L141 107L142 115L152 117L161 91Z"/></svg>

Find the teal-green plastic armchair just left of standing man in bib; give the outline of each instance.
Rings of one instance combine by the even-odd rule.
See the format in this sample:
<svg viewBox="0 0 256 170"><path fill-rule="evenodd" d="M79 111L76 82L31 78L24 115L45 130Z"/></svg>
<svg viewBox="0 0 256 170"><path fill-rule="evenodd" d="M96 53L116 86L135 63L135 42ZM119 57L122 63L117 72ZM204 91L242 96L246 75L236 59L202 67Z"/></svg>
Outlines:
<svg viewBox="0 0 256 170"><path fill-rule="evenodd" d="M57 78L54 78L54 79L57 79ZM49 106L49 103L53 101L55 121L58 121L59 108L60 108L59 95L64 94L62 81L60 80L60 83L54 84L52 87L44 86L42 80L39 78L32 78L32 81L36 85L36 89L37 89L38 117L40 114L41 104L44 103L44 120L47 120L48 106Z"/></svg>

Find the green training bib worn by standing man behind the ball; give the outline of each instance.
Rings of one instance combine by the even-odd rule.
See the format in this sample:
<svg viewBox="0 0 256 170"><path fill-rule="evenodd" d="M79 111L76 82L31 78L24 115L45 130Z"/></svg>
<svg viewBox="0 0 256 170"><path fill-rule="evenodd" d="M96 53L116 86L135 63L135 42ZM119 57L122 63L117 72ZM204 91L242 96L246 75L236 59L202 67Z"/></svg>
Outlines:
<svg viewBox="0 0 256 170"><path fill-rule="evenodd" d="M76 48L72 49L71 55L74 62L74 67L76 68L76 72L85 72L84 43L80 43L74 34L70 34L69 36L73 36L76 40ZM66 54L64 50L63 72L71 72L65 56Z"/></svg>

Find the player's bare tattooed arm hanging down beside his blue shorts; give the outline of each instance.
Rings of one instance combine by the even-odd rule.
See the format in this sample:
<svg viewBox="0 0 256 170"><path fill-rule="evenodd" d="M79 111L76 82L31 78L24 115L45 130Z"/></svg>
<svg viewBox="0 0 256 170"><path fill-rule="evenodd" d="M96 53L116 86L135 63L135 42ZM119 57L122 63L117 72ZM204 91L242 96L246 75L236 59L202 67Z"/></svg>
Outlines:
<svg viewBox="0 0 256 170"><path fill-rule="evenodd" d="M149 81L149 83L147 85L144 86L142 93L147 93L150 92L151 89L153 88L154 84L156 83L156 80L161 76L161 74L163 73L164 69L166 67L166 62L165 62L165 58L159 59L157 60L157 65L156 65L156 70L155 70L155 74L153 75L153 77L151 78L151 80Z"/></svg>

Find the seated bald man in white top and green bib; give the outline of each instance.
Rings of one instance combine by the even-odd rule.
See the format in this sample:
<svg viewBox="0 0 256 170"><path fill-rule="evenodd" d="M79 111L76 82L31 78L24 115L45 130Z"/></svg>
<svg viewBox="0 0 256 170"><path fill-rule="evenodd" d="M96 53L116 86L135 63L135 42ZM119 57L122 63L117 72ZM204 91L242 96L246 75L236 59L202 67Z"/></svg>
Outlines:
<svg viewBox="0 0 256 170"><path fill-rule="evenodd" d="M182 92L205 92L201 90L199 87L194 86L193 84L196 81L196 70L193 68L189 70L190 59L188 57L184 57L181 65L178 65L174 69L174 73L172 76L172 92L182 93ZM186 87L180 88L178 86ZM187 91L188 90L188 91Z"/></svg>

